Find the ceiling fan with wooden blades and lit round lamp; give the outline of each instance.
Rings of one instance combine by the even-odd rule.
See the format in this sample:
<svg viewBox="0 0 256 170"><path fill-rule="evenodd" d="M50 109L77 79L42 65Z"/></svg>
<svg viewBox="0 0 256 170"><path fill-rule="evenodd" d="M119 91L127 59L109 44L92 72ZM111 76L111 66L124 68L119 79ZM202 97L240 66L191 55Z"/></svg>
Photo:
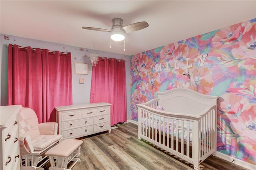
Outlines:
<svg viewBox="0 0 256 170"><path fill-rule="evenodd" d="M102 29L102 28L93 28L93 27L86 27L83 26L83 29L86 30L95 30L95 31L103 31L103 32L110 32L110 38L114 41L122 41L124 40L124 34L129 32L138 31L148 27L148 23L143 22L136 22L127 26L123 26L123 20L121 18L114 18L112 20L112 27L110 30Z"/></svg>

